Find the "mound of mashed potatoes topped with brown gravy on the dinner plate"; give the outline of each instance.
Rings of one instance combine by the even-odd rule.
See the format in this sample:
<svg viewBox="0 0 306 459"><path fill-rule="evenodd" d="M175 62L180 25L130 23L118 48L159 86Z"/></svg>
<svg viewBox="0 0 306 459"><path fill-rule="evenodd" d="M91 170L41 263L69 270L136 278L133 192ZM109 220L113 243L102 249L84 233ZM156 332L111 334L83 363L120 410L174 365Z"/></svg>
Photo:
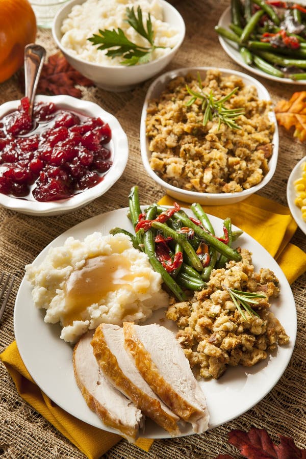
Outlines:
<svg viewBox="0 0 306 459"><path fill-rule="evenodd" d="M35 306L46 310L44 321L60 322L61 338L72 343L102 322L139 322L168 305L161 275L123 234L69 237L25 270Z"/></svg>

